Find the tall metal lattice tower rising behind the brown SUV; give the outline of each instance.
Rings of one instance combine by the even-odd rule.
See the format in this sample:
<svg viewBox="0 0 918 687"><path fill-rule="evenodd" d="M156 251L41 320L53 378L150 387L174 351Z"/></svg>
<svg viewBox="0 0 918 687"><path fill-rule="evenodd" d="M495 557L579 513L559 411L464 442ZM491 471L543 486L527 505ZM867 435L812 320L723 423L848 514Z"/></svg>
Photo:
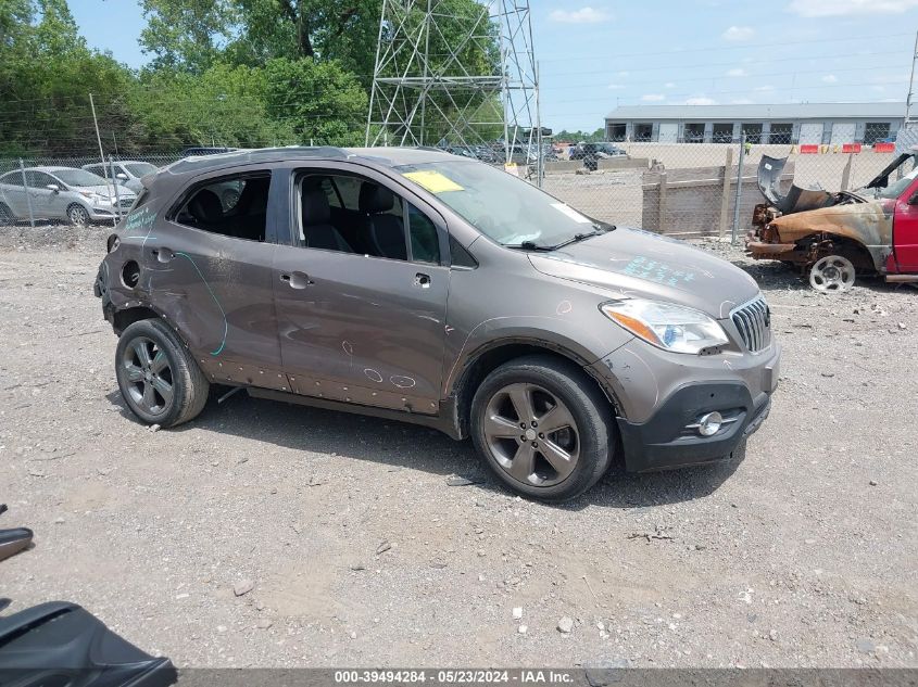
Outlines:
<svg viewBox="0 0 918 687"><path fill-rule="evenodd" d="M504 162L541 157L529 1L383 0L366 144L499 139Z"/></svg>

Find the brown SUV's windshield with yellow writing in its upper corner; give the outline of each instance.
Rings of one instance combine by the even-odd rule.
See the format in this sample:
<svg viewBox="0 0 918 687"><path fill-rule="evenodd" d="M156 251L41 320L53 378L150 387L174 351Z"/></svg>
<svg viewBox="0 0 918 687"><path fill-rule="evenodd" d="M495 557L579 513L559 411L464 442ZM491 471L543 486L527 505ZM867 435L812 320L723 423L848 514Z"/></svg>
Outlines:
<svg viewBox="0 0 918 687"><path fill-rule="evenodd" d="M457 160L398 169L503 245L551 247L608 228L531 183L482 163Z"/></svg>

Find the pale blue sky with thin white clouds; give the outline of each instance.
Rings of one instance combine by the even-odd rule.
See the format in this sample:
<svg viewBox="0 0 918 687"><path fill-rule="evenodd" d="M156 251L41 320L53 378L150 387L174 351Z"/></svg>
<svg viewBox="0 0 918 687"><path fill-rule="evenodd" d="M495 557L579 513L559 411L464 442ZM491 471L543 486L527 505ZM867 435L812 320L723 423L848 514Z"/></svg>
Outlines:
<svg viewBox="0 0 918 687"><path fill-rule="evenodd" d="M91 46L143 64L134 0L70 4ZM918 30L918 0L530 4L555 130L599 128L617 104L904 101Z"/></svg>

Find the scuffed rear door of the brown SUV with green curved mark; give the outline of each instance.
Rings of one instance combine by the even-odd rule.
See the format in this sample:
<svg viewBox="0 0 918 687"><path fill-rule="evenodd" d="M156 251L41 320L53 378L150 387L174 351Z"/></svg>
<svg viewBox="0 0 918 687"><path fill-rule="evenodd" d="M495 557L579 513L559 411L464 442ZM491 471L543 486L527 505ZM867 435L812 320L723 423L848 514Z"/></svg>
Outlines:
<svg viewBox="0 0 918 687"><path fill-rule="evenodd" d="M218 191L238 182L239 202L225 211ZM244 167L196 179L162 219L144 207L125 222L141 240L154 306L181 332L213 381L281 389L274 310L274 256L268 217L272 170Z"/></svg>

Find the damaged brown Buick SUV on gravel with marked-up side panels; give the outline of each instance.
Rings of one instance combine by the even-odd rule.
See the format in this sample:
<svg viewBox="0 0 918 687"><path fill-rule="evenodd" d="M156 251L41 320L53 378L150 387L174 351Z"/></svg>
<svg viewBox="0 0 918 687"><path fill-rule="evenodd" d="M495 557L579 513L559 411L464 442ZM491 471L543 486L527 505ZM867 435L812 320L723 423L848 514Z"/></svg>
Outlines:
<svg viewBox="0 0 918 687"><path fill-rule="evenodd" d="M562 500L613 459L729 457L768 415L780 347L753 279L477 161L268 149L144 186L96 282L144 422L243 387L470 436L512 488Z"/></svg>

